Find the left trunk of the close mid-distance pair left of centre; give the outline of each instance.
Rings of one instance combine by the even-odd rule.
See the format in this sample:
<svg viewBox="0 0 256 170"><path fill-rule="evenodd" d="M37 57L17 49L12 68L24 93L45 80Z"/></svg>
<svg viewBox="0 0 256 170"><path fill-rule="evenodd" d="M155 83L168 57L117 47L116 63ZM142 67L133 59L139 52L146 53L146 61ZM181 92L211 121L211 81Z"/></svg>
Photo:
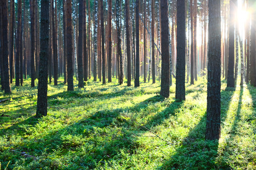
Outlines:
<svg viewBox="0 0 256 170"><path fill-rule="evenodd" d="M67 61L68 61L68 91L74 91L73 84L73 27L72 27L72 1L67 0Z"/></svg>

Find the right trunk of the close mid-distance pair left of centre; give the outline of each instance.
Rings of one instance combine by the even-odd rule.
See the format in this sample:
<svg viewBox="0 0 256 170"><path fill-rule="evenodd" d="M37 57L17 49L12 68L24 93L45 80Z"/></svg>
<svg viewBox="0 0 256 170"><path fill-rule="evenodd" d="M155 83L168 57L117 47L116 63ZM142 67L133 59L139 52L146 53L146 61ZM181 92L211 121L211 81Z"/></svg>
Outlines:
<svg viewBox="0 0 256 170"><path fill-rule="evenodd" d="M83 79L83 69L82 69L82 50L83 50L83 44L82 43L82 37L84 36L82 33L82 28L84 26L83 23L83 8L85 8L84 5L85 1L84 0L79 0L79 45L78 45L78 71L79 71L79 87L84 87L84 79ZM84 51L85 53L85 51Z"/></svg>

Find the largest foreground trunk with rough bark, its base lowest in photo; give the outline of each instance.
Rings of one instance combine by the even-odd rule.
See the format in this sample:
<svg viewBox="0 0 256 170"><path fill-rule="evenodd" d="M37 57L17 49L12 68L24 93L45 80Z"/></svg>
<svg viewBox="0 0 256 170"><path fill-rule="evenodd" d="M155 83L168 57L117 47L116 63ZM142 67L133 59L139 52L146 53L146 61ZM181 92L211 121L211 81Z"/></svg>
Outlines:
<svg viewBox="0 0 256 170"><path fill-rule="evenodd" d="M221 3L209 0L207 128L205 139L215 140L221 133Z"/></svg>

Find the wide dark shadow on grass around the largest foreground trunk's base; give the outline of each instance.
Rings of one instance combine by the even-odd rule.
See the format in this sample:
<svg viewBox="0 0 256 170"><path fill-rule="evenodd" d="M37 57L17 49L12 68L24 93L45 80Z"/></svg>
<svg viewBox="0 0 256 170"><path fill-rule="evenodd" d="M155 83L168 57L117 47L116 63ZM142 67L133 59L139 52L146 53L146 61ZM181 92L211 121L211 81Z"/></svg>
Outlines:
<svg viewBox="0 0 256 170"><path fill-rule="evenodd" d="M228 95L227 95L228 94ZM222 91L221 117L226 117L234 91ZM187 137L175 149L175 154L159 169L218 169L214 160L217 157L218 142L205 141L206 112L199 123L189 131Z"/></svg>

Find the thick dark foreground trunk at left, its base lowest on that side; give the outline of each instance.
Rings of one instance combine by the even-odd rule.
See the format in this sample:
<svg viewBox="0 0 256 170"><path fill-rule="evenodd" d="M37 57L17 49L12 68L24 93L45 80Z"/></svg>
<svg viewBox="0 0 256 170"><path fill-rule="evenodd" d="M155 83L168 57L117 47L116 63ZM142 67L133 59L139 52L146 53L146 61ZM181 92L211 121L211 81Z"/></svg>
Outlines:
<svg viewBox="0 0 256 170"><path fill-rule="evenodd" d="M41 1L40 20L40 62L38 76L38 105L36 116L47 115L47 78L48 72L48 45L49 45L49 0Z"/></svg>

